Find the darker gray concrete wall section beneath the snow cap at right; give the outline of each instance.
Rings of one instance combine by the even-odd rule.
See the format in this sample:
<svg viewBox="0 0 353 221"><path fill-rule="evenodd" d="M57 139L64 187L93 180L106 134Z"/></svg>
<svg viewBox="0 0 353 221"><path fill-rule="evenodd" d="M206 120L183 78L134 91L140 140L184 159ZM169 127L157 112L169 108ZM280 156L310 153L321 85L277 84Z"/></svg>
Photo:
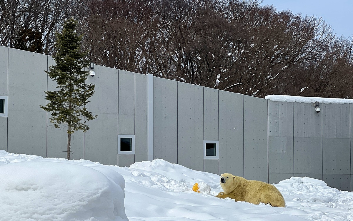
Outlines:
<svg viewBox="0 0 353 221"><path fill-rule="evenodd" d="M269 182L291 176L352 190L352 104L268 103Z"/></svg>

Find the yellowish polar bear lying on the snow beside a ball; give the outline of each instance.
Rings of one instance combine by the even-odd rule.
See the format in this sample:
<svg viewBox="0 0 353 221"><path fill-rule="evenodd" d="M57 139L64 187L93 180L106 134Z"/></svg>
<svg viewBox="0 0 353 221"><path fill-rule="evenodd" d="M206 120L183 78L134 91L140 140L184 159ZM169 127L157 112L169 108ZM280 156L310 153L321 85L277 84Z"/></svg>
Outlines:
<svg viewBox="0 0 353 221"><path fill-rule="evenodd" d="M273 207L286 207L285 200L274 185L258 180L247 180L233 176L230 173L221 174L221 187L218 198L232 198L235 201L245 201L253 204L265 203Z"/></svg>

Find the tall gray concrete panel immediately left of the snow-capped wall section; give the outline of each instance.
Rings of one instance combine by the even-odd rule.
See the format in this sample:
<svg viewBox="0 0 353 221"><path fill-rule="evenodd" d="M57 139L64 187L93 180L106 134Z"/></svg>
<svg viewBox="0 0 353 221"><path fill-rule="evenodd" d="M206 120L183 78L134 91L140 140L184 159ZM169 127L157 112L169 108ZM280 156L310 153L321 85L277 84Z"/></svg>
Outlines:
<svg viewBox="0 0 353 221"><path fill-rule="evenodd" d="M267 100L244 95L244 178L268 182Z"/></svg>

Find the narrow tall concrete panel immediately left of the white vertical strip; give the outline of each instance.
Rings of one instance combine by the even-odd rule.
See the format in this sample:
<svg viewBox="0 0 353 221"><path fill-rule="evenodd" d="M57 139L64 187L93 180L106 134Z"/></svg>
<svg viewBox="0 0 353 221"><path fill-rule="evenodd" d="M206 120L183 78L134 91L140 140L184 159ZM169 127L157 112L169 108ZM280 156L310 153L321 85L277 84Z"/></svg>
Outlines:
<svg viewBox="0 0 353 221"><path fill-rule="evenodd" d="M135 161L147 160L146 75L135 74Z"/></svg>

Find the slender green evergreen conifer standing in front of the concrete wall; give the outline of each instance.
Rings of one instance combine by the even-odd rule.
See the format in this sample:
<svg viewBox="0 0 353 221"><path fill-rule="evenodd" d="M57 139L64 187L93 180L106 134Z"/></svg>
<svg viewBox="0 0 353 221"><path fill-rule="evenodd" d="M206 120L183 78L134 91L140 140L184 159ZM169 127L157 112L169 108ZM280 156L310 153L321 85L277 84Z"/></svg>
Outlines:
<svg viewBox="0 0 353 221"><path fill-rule="evenodd" d="M49 103L41 108L51 112L50 122L55 128L67 126L67 159L70 160L71 134L75 131L89 130L85 121L97 117L89 112L85 105L94 93L95 85L86 84L89 66L87 53L81 51L82 35L76 33L77 22L69 19L65 22L62 32L56 34L55 50L53 56L55 66L49 67L48 76L57 82L58 91L44 91Z"/></svg>

